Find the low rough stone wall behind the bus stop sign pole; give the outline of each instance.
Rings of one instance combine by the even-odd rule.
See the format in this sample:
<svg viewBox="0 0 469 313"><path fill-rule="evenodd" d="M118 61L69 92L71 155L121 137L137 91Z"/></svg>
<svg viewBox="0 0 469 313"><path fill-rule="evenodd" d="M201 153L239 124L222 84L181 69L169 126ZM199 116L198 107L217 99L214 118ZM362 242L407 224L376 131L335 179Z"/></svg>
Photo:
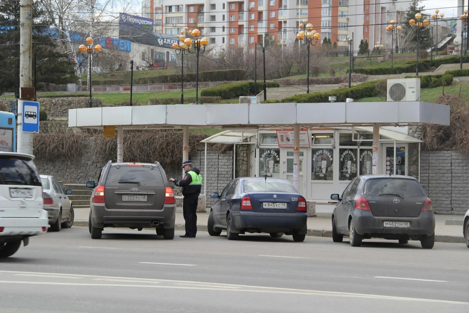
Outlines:
<svg viewBox="0 0 469 313"><path fill-rule="evenodd" d="M11 102L15 99L0 99L0 110L11 112ZM90 98L38 98L41 111L47 113L47 117L68 117L68 109L90 107ZM93 107L102 107L101 99L93 98Z"/></svg>

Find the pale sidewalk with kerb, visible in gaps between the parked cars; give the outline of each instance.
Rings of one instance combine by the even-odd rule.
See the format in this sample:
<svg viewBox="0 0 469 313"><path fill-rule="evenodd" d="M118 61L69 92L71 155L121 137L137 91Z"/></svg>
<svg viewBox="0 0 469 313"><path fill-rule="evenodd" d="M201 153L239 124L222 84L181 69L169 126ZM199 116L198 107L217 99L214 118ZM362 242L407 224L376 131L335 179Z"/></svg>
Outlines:
<svg viewBox="0 0 469 313"><path fill-rule="evenodd" d="M75 226L88 227L89 208L76 208ZM209 213L197 213L197 229L199 231L207 231L207 219ZM462 235L463 215L435 215L435 234L437 242L445 243L465 243ZM182 209L176 211L176 230L184 230L184 217ZM332 237L332 224L330 214L320 214L318 217L308 218L308 234L307 236L315 237Z"/></svg>

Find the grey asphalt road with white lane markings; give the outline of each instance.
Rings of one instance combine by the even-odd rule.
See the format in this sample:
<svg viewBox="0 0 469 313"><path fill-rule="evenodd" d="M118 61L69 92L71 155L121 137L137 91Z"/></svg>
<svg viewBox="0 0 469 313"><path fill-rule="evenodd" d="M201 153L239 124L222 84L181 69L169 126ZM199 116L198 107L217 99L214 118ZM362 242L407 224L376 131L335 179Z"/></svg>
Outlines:
<svg viewBox="0 0 469 313"><path fill-rule="evenodd" d="M73 227L0 261L0 303L2 312L467 313L468 252L260 234L163 240L130 229L92 240Z"/></svg>

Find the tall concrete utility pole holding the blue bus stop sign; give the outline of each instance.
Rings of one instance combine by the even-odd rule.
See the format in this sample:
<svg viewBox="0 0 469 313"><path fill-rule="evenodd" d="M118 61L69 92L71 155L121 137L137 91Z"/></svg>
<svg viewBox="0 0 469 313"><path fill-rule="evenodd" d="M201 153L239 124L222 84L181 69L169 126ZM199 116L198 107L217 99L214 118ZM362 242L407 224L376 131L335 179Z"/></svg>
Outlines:
<svg viewBox="0 0 469 313"><path fill-rule="evenodd" d="M33 99L32 87L32 6L20 0L20 95L18 101L17 151L33 154L32 133L23 132L23 100ZM39 117L39 112L38 112Z"/></svg>

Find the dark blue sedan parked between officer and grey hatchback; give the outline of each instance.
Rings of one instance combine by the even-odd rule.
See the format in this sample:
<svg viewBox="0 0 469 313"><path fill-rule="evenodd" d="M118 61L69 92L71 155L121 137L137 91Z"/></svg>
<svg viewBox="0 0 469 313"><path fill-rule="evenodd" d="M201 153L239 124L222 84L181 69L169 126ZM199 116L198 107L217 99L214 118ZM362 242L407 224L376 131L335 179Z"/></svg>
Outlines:
<svg viewBox="0 0 469 313"><path fill-rule="evenodd" d="M239 234L270 233L272 237L293 235L303 241L306 235L306 200L285 179L236 178L219 194L210 210L208 233L235 240Z"/></svg>

